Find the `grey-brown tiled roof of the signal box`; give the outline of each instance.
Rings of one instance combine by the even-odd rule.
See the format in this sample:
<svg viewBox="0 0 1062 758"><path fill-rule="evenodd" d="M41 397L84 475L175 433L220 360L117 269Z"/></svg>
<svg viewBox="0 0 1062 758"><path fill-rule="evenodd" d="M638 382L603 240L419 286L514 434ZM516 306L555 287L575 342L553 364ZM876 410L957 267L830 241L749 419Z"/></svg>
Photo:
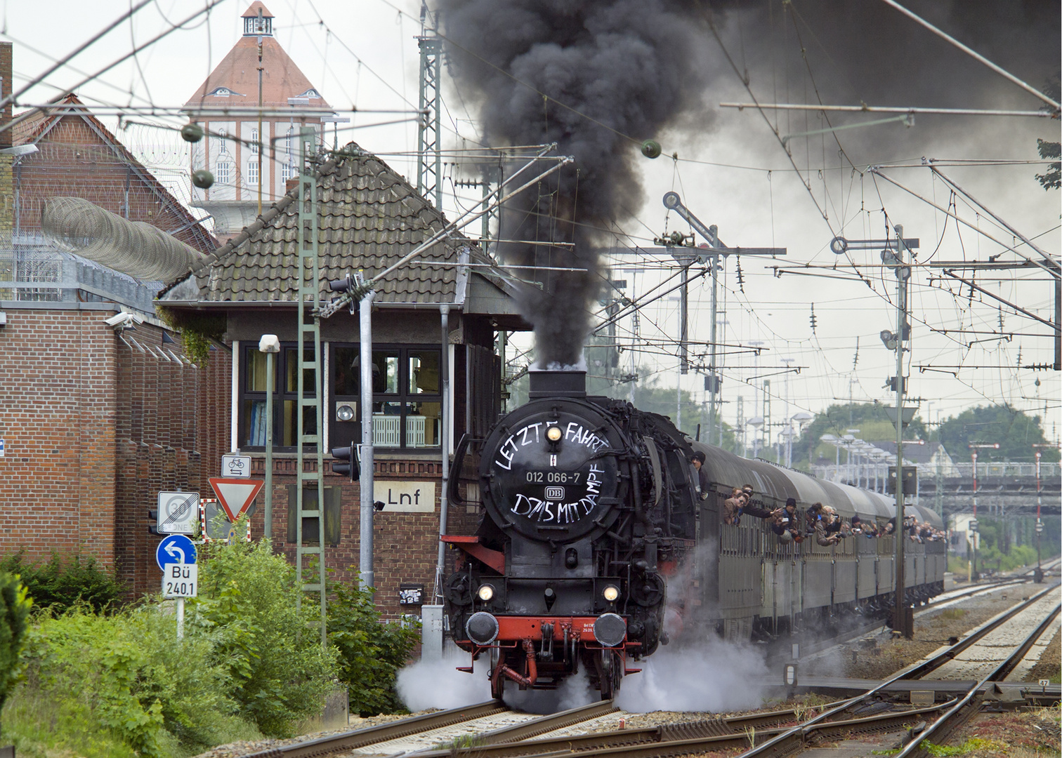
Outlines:
<svg viewBox="0 0 1062 758"><path fill-rule="evenodd" d="M443 214L406 179L353 142L318 171L322 279L383 271L446 225ZM294 302L298 263L297 188L219 247L159 299L184 303ZM389 274L377 303L455 303L462 251L482 256L459 234ZM448 263L448 265L432 265ZM493 278L493 277L492 277Z"/></svg>

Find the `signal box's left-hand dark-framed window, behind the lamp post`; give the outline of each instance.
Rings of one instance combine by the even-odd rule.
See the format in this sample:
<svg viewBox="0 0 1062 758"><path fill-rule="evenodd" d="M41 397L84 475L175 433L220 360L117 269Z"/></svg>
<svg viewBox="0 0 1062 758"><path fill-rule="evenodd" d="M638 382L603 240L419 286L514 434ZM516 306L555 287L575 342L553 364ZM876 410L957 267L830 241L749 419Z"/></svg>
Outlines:
<svg viewBox="0 0 1062 758"><path fill-rule="evenodd" d="M273 445L277 450L295 449L298 434L298 346L281 343L276 356L273 381ZM313 360L313 347L304 347L306 360ZM266 448L266 354L257 345L243 347L240 385L239 429L241 449ZM313 371L304 371L304 397L313 397ZM312 408L303 409L304 433L316 433L316 416Z"/></svg>

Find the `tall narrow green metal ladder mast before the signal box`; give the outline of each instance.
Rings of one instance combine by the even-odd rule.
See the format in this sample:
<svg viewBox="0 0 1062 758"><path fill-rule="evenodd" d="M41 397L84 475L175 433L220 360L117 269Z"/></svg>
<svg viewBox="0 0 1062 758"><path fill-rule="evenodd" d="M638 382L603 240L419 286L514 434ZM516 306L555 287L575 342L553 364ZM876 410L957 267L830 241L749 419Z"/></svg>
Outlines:
<svg viewBox="0 0 1062 758"><path fill-rule="evenodd" d="M324 480L324 426L322 424L322 376L321 376L321 303L320 303L320 266L318 261L318 180L314 175L311 159L316 153L316 132L312 127L303 126L298 131L301 171L298 174L298 401L295 429L297 436L295 458L295 583L302 588L296 596L295 608L302 609L303 595L316 592L321 599L321 645L328 644L325 605L325 480ZM313 321L306 323L306 304L310 303ZM306 358L307 340L312 341L313 356ZM306 375L312 373L313 394L306 396ZM313 409L315 419L314 433L306 433L306 409ZM316 466L313 471L305 470L306 446L313 445L316 450ZM311 453L312 454L312 453ZM316 482L318 507L308 511L305 507L305 483ZM290 504L289 504L290 507ZM303 544L303 519L318 520L318 547L310 548ZM316 556L316 580L303 582L304 564L309 556Z"/></svg>

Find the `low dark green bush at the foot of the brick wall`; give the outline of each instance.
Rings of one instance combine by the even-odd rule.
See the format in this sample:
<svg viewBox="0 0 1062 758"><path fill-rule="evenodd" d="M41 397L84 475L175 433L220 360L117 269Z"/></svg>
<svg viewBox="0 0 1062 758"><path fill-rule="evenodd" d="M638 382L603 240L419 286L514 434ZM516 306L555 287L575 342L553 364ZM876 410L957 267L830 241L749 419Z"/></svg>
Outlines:
<svg viewBox="0 0 1062 758"><path fill-rule="evenodd" d="M18 552L0 561L0 571L19 574L34 605L50 607L56 614L78 603L103 610L117 604L125 593L125 585L112 571L100 566L95 557L83 558L80 554L64 559L52 553L51 559L40 565L25 563L25 554Z"/></svg>

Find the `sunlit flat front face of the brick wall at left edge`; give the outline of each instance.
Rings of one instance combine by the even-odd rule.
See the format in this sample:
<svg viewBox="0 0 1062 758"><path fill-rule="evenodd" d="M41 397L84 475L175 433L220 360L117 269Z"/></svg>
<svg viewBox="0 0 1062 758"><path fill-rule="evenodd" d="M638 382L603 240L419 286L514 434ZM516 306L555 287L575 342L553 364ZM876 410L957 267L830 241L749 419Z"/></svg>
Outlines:
<svg viewBox="0 0 1062 758"><path fill-rule="evenodd" d="M100 311L8 310L0 328L0 553L115 557L116 357Z"/></svg>

